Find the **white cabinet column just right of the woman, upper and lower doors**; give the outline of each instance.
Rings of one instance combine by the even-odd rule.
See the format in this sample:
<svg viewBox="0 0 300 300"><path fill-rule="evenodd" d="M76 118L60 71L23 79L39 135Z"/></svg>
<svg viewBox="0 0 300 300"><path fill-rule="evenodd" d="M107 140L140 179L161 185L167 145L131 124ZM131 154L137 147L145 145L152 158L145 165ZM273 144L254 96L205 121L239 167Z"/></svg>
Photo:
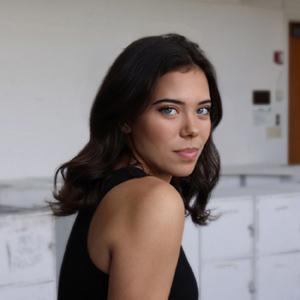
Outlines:
<svg viewBox="0 0 300 300"><path fill-rule="evenodd" d="M200 230L203 300L250 300L253 292L253 199L218 197L209 208L220 217Z"/></svg>

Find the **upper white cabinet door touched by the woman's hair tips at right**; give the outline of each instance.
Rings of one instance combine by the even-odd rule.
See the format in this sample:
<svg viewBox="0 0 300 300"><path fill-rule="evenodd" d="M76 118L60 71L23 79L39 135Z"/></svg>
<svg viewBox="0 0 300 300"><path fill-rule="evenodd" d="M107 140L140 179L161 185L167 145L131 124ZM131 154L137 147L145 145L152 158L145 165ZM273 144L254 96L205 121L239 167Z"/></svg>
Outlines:
<svg viewBox="0 0 300 300"><path fill-rule="evenodd" d="M251 197L217 198L209 205L220 217L200 231L203 260L249 258L253 252ZM238 242L237 242L238 241Z"/></svg>

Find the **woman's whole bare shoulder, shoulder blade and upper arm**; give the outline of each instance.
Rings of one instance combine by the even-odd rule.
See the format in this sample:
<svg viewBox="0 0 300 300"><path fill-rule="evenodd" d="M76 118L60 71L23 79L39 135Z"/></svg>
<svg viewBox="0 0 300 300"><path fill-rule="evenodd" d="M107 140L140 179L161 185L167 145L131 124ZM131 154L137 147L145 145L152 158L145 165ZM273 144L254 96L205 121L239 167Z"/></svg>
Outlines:
<svg viewBox="0 0 300 300"><path fill-rule="evenodd" d="M89 240L92 260L110 274L108 299L167 299L184 212L177 190L153 176L127 180L106 194Z"/></svg>

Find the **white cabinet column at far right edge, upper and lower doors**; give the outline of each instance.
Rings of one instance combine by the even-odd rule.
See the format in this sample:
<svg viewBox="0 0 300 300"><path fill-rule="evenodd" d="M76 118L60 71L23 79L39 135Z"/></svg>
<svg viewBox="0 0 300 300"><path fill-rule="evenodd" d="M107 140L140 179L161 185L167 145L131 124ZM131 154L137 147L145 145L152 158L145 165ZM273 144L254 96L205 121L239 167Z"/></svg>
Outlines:
<svg viewBox="0 0 300 300"><path fill-rule="evenodd" d="M256 197L256 300L300 299L300 193Z"/></svg>

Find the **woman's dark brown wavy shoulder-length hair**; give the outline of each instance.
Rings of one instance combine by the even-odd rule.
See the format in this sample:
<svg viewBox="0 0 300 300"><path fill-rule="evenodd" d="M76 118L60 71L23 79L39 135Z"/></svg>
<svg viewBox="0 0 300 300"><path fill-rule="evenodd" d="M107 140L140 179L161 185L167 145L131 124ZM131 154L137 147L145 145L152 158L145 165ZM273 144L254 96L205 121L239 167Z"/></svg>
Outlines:
<svg viewBox="0 0 300 300"><path fill-rule="evenodd" d="M213 219L206 209L219 179L220 157L212 132L222 118L221 98L214 67L199 46L179 34L148 36L126 47L109 68L90 113L90 139L84 148L55 172L50 206L57 216L96 206L99 185L124 153L133 157L121 127L143 112L157 80L170 71L199 67L206 75L212 101L211 132L197 164L187 177L172 177L186 215L195 224ZM62 186L58 189L58 175Z"/></svg>

